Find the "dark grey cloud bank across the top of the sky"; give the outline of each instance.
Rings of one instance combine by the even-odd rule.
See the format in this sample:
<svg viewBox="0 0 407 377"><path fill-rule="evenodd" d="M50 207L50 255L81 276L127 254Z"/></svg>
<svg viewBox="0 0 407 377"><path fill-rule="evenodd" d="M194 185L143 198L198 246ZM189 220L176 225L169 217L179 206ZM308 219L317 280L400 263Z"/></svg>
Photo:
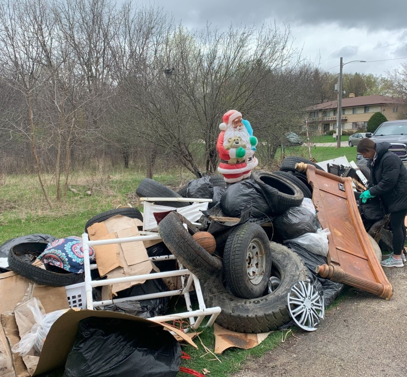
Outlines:
<svg viewBox="0 0 407 377"><path fill-rule="evenodd" d="M206 22L220 28L231 22L251 25L276 18L315 27L338 23L345 28L397 30L405 27L407 14L405 0L161 0L161 4L192 27Z"/></svg>

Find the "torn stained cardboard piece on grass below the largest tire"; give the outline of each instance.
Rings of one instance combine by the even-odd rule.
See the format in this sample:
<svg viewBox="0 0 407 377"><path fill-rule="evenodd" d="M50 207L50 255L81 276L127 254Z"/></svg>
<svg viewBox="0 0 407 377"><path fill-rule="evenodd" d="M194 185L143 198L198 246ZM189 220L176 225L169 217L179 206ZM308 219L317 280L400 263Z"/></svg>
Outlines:
<svg viewBox="0 0 407 377"><path fill-rule="evenodd" d="M243 334L227 330L216 323L214 323L213 326L213 334L215 335L215 353L222 353L225 349L231 347L249 350L250 348L258 346L272 333Z"/></svg>

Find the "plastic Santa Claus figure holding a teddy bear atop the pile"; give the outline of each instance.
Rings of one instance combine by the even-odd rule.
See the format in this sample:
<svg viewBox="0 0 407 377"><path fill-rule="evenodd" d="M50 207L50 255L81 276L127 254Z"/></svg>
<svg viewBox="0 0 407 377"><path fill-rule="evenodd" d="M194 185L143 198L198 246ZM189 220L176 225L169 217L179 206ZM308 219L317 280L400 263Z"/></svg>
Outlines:
<svg viewBox="0 0 407 377"><path fill-rule="evenodd" d="M220 159L217 170L228 183L248 178L258 161L254 157L257 138L247 120L236 110L229 110L222 117L216 150Z"/></svg>

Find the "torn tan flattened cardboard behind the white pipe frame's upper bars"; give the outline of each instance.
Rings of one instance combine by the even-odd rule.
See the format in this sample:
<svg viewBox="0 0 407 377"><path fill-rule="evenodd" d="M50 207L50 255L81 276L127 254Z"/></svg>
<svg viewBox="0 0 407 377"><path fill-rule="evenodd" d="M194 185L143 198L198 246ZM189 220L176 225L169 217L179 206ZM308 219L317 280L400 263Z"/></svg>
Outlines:
<svg viewBox="0 0 407 377"><path fill-rule="evenodd" d="M95 223L87 229L89 239L96 241L137 237L140 233L136 220L117 215L102 223ZM152 264L142 242L101 245L95 246L94 250L99 273L101 276L106 275L109 279L148 274L152 270ZM105 286L102 289L102 300L112 299L116 296L117 292L137 284L143 284L144 281L132 281Z"/></svg>

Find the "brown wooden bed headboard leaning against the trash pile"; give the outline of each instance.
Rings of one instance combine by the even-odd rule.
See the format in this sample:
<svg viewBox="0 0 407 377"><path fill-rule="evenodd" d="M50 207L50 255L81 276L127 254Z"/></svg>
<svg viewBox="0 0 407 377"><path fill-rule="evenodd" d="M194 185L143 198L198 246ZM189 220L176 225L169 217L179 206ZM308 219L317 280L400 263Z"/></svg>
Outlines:
<svg viewBox="0 0 407 377"><path fill-rule="evenodd" d="M306 171L313 189L312 202L321 225L331 231L328 235L328 264L317 266L316 272L322 277L389 300L393 289L360 218L352 179L315 169L313 165L307 165L306 168L301 165L298 168Z"/></svg>

